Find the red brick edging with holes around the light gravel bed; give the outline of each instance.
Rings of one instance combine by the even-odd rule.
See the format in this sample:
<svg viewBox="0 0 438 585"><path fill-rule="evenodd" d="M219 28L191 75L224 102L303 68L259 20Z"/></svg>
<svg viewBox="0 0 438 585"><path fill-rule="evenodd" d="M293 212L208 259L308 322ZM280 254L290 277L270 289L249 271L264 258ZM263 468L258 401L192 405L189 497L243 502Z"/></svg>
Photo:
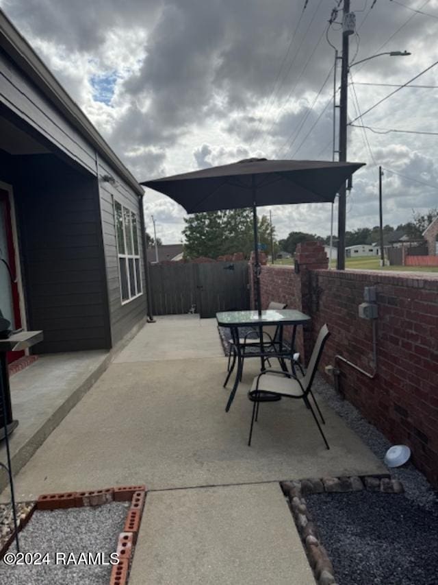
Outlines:
<svg viewBox="0 0 438 585"><path fill-rule="evenodd" d="M29 522L34 510L66 510L67 508L83 508L103 505L107 503L131 501L131 507L127 512L123 530L117 538L116 552L119 556L118 564L112 567L110 575L110 585L126 585L131 569L133 551L137 542L140 523L146 501L147 488L141 486L118 486L114 488L105 488L102 490L83 490L80 492L57 492L53 494L41 494L35 502L29 505L29 512L24 518L19 518L17 532L25 527ZM19 503L17 505L20 505ZM0 560L11 542L14 540L16 532L8 536L0 547Z"/></svg>

